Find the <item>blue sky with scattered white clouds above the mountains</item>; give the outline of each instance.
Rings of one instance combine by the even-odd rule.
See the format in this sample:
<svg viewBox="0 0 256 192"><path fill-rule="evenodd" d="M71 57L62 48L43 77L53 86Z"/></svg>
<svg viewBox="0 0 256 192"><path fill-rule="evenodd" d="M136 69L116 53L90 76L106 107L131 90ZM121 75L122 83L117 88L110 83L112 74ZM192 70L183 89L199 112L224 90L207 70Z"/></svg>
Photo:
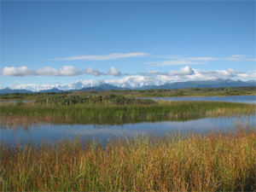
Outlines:
<svg viewBox="0 0 256 192"><path fill-rule="evenodd" d="M1 88L256 79L255 1L1 1Z"/></svg>

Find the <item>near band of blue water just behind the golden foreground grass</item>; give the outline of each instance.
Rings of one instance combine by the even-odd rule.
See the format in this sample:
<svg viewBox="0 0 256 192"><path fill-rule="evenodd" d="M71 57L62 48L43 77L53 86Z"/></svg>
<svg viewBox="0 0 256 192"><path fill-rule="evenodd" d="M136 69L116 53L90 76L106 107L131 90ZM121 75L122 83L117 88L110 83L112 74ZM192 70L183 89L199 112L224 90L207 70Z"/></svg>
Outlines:
<svg viewBox="0 0 256 192"><path fill-rule="evenodd" d="M40 140L58 141L62 138L80 138L90 137L107 141L109 137L133 136L154 132L157 135L163 135L172 131L196 131L205 133L206 131L215 131L217 129L234 128L238 125L253 125L255 127L255 116L242 116L218 119L190 119L183 121L158 121L141 122L136 124L126 123L124 125L32 125L20 127L19 129L1 128L1 141L6 143L15 143L33 141L37 143Z"/></svg>

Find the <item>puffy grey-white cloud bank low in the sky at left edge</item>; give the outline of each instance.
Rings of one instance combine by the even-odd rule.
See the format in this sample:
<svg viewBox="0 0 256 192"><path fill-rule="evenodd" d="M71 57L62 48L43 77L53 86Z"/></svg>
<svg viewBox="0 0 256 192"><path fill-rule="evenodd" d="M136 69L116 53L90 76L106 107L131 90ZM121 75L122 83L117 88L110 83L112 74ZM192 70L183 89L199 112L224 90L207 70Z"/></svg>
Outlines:
<svg viewBox="0 0 256 192"><path fill-rule="evenodd" d="M25 77L25 76L77 76L83 72L77 67L64 66L60 70L51 67L39 67L37 70L32 70L28 67L4 67L1 70L2 75Z"/></svg>

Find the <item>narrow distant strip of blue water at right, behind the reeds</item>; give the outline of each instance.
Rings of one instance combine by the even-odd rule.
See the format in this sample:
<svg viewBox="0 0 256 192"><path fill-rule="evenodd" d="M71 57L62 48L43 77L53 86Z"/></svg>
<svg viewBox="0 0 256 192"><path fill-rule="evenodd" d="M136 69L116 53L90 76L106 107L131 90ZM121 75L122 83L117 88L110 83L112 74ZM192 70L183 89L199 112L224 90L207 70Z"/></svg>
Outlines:
<svg viewBox="0 0 256 192"><path fill-rule="evenodd" d="M256 103L256 96L177 96L177 97L150 97L154 100L171 101L209 101L209 102L246 102Z"/></svg>

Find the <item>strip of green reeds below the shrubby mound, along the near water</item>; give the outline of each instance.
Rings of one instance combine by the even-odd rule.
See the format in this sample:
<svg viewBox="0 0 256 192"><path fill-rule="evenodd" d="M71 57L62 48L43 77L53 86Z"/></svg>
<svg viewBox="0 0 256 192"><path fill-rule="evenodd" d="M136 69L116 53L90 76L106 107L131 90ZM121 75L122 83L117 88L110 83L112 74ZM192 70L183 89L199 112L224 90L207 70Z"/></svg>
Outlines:
<svg viewBox="0 0 256 192"><path fill-rule="evenodd" d="M253 114L255 105L232 102L172 102L116 105L74 104L41 105L35 103L1 103L1 115L83 117L85 119L150 119L156 116L193 117Z"/></svg>

